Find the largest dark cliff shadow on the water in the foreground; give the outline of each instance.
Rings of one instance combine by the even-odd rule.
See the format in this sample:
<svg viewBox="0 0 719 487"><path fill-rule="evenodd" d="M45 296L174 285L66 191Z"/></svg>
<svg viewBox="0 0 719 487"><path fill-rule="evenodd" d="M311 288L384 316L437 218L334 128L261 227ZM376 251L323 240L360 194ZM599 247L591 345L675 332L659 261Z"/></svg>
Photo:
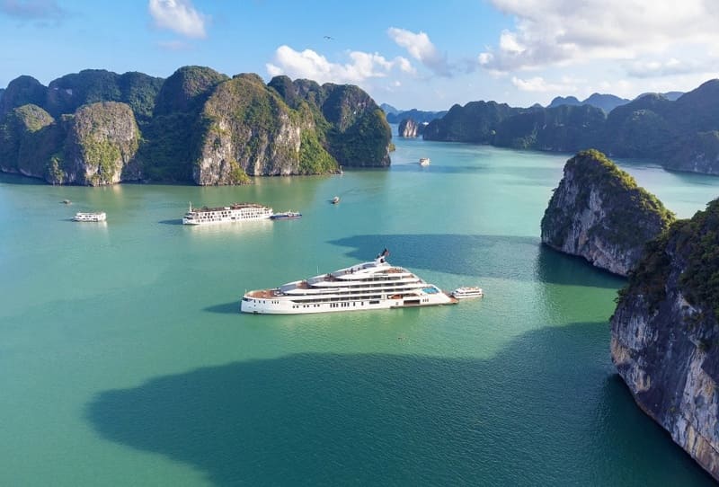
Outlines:
<svg viewBox="0 0 719 487"><path fill-rule="evenodd" d="M613 378L607 341L574 323L492 359L235 362L102 392L85 417L216 485L711 484Z"/></svg>

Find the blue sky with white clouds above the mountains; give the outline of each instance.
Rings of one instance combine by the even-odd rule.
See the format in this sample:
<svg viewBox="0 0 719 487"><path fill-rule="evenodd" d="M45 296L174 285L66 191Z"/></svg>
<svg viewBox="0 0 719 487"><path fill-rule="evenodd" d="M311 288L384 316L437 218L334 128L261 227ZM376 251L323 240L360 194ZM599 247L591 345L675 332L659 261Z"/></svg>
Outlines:
<svg viewBox="0 0 719 487"><path fill-rule="evenodd" d="M181 66L357 84L400 110L687 92L719 77L719 0L0 0L0 87Z"/></svg>

